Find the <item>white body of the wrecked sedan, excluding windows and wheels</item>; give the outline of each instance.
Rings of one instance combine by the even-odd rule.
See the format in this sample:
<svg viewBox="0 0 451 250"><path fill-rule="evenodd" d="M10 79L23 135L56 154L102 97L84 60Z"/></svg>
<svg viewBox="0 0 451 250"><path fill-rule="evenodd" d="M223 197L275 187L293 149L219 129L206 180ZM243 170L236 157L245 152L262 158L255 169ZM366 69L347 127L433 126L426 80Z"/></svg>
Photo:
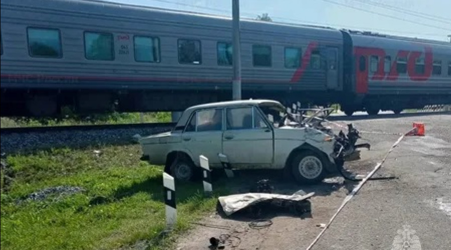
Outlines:
<svg viewBox="0 0 451 250"><path fill-rule="evenodd" d="M228 130L225 129L226 120L223 118L221 130L186 132L184 129L185 124L190 121L191 113L195 110L229 108L235 105L256 106L258 108L259 101L278 103L269 100L242 100L190 107L184 111L174 131L140 139L143 155L148 156L148 161L151 164L161 165L166 163L169 153L174 151L185 152L197 166L199 165L199 155L204 155L208 158L210 167L215 168L222 166L218 154L223 153L228 156L234 168L281 169L285 167L290 153L307 143L324 152L330 161L330 165L335 164L331 156L334 152L334 140L329 134L313 127L282 126L279 128L273 126L268 117L265 117L267 127ZM225 114L225 111L222 114Z"/></svg>

